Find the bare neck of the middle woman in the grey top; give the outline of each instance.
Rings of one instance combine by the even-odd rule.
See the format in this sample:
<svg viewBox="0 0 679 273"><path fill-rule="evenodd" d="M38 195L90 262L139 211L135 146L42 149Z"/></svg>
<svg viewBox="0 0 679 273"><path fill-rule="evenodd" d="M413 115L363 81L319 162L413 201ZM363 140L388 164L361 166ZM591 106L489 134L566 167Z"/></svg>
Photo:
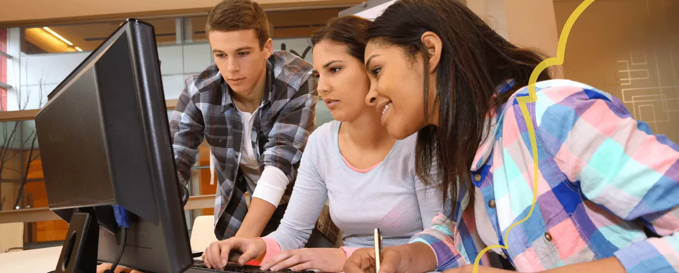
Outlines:
<svg viewBox="0 0 679 273"><path fill-rule="evenodd" d="M380 118L378 113L369 108L356 120L342 122L341 128L356 146L367 149L380 147L385 142L395 141L380 123Z"/></svg>

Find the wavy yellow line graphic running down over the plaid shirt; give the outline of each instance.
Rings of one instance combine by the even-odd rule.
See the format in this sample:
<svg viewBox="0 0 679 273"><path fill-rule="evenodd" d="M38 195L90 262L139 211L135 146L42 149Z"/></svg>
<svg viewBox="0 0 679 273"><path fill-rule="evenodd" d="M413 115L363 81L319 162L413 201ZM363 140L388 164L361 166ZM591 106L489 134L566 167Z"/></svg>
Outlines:
<svg viewBox="0 0 679 273"><path fill-rule="evenodd" d="M538 145L535 140L535 128L533 127L533 121L530 119L530 113L528 113L528 107L526 107L526 103L534 103L535 101L537 101L537 95L535 94L535 82L538 80L538 75L540 75L540 73L547 69L547 67L551 67L552 65L564 64L564 52L566 52L566 41L568 40L568 34L570 33L570 29L573 27L575 20L578 20L580 14L582 14L585 11L585 9L594 1L595 0L583 1L583 3L581 3L572 14L570 14L568 20L566 20L566 25L564 25L564 30L561 32L561 37L559 37L559 44L557 45L556 57L543 60L542 62L540 62L540 64L538 64L537 67L535 67L533 72L530 74L530 79L528 80L528 96L519 96L516 98L516 100L519 103L519 107L521 108L521 113L524 114L524 120L526 120L526 127L528 127L528 135L530 136L530 147L533 151L533 164L534 164L533 204L530 206L530 211L528 212L528 215L526 215L526 218L516 223L513 223L513 225L509 226L507 232L504 232L504 245L494 244L492 246L486 247L481 252L479 252L479 255L476 256L476 260L474 261L473 270L474 273L479 272L479 261L481 261L481 255L483 255L483 253L485 253L486 251L490 251L490 249L494 248L508 249L509 246L507 245L507 235L509 235L509 231L519 223L523 223L524 221L526 221L528 217L530 217L530 215L533 214L535 202L538 198L537 191Z"/></svg>

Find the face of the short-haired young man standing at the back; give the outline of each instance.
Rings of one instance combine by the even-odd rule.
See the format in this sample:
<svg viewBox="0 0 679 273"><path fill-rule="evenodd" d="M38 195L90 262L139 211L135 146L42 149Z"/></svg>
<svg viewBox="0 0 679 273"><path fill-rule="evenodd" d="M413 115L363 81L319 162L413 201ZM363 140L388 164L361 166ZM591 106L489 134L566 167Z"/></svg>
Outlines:
<svg viewBox="0 0 679 273"><path fill-rule="evenodd" d="M255 31L247 29L210 31L208 41L219 72L234 92L250 93L263 80L266 60L273 52L271 39L260 47Z"/></svg>

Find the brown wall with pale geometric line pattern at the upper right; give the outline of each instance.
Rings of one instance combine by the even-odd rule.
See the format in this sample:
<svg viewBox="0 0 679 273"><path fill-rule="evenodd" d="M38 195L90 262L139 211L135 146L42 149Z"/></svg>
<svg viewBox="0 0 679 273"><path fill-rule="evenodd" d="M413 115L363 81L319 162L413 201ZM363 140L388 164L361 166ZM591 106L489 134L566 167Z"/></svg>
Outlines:
<svg viewBox="0 0 679 273"><path fill-rule="evenodd" d="M580 2L554 2L559 32ZM612 94L679 142L678 12L679 0L595 1L568 38L565 77Z"/></svg>

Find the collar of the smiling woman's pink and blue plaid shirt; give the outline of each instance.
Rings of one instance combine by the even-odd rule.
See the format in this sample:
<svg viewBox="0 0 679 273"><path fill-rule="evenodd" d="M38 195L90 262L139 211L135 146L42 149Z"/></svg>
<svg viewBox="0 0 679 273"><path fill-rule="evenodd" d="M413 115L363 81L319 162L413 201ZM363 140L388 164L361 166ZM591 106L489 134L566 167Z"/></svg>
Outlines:
<svg viewBox="0 0 679 273"><path fill-rule="evenodd" d="M496 87L497 94L502 94L503 92L511 89L513 86L514 80L508 79ZM500 109L502 109L502 113L498 115L498 110ZM488 115L486 115L484 124L485 126L483 126L483 136L485 136L485 139L481 141L481 145L479 145L479 149L476 151L476 156L474 156L475 164L471 166L472 171L479 170L483 164L488 161L488 158L493 151L498 129L500 128L498 124L502 122L502 116L504 116L504 105L502 105L502 107L498 107L498 109L492 109ZM490 124L490 127L487 126L488 124Z"/></svg>

